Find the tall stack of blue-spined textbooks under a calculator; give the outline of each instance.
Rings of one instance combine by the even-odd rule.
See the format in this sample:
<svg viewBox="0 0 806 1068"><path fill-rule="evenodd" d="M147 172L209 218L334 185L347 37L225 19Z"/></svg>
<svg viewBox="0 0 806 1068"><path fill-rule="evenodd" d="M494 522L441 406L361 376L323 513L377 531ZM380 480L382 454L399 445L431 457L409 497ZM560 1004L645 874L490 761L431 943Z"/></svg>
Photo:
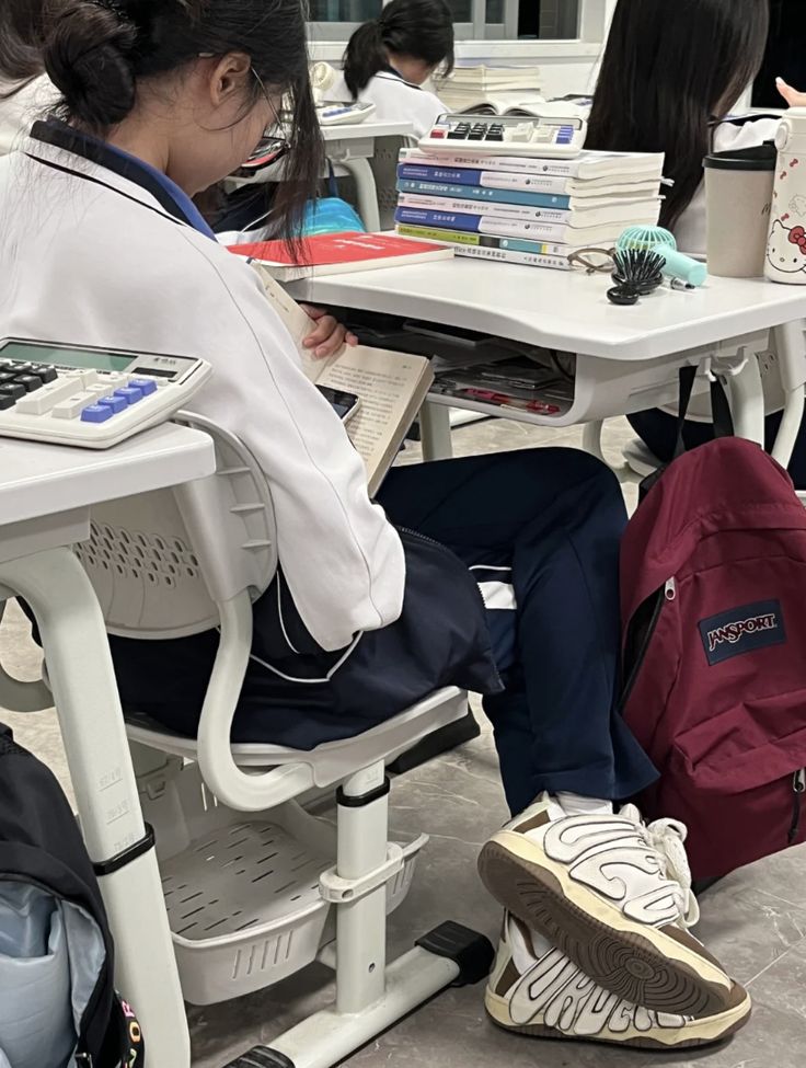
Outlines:
<svg viewBox="0 0 806 1068"><path fill-rule="evenodd" d="M663 154L582 152L576 159L404 150L400 234L457 255L568 268L573 252L612 248L660 215Z"/></svg>

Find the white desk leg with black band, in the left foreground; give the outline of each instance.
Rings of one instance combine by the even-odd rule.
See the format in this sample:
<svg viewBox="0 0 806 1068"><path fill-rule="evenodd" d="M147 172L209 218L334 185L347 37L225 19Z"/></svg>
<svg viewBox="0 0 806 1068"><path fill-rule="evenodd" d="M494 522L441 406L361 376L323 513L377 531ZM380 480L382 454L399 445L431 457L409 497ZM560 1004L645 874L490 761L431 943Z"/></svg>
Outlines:
<svg viewBox="0 0 806 1068"><path fill-rule="evenodd" d="M39 624L87 848L95 864L108 863L142 842L146 830L94 590L69 549L0 563L0 586L24 597ZM116 983L142 1024L149 1064L189 1068L187 1020L153 848L100 884L117 948Z"/></svg>

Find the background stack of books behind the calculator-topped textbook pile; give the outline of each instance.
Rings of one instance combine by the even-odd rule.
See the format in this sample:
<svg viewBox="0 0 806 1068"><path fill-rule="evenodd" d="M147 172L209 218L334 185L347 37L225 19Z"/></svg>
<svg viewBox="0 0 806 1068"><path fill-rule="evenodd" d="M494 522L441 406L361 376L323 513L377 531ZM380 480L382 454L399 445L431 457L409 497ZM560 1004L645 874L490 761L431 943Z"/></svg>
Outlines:
<svg viewBox="0 0 806 1068"><path fill-rule="evenodd" d="M542 102L537 67L457 67L439 84L439 99L452 112L525 115Z"/></svg>

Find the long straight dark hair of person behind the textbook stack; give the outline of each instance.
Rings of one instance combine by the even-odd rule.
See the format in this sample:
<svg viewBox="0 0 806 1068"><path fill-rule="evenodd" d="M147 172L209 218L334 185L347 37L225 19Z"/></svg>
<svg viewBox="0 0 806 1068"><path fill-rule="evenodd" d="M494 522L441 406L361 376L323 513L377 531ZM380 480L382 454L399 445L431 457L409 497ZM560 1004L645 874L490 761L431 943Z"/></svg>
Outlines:
<svg viewBox="0 0 806 1068"><path fill-rule="evenodd" d="M619 0L586 147L666 152L663 226L691 204L714 119L758 73L769 21L769 0Z"/></svg>

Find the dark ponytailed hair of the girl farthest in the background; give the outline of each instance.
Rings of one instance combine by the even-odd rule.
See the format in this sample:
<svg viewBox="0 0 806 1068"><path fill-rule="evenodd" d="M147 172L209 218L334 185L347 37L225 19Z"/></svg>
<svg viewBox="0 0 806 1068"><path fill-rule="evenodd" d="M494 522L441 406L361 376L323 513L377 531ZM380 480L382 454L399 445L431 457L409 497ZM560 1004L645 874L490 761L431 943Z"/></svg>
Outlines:
<svg viewBox="0 0 806 1068"><path fill-rule="evenodd" d="M422 59L430 67L453 70L453 15L446 0L392 0L378 19L365 22L349 38L344 54L344 80L357 97L389 53Z"/></svg>

